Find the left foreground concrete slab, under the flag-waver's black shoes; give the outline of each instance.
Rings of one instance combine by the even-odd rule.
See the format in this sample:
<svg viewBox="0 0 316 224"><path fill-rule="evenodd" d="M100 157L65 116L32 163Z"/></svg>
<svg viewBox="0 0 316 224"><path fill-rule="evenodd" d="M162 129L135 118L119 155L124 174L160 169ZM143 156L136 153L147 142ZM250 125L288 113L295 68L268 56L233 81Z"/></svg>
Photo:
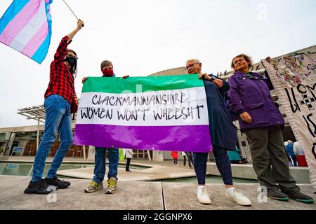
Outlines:
<svg viewBox="0 0 316 224"><path fill-rule="evenodd" d="M72 179L70 188L57 190L55 195L26 195L23 193L29 177L0 176L0 210L162 210L162 183L121 182L117 193L105 190L84 193L90 181ZM106 187L106 185L105 185ZM55 202L54 202L55 197Z"/></svg>

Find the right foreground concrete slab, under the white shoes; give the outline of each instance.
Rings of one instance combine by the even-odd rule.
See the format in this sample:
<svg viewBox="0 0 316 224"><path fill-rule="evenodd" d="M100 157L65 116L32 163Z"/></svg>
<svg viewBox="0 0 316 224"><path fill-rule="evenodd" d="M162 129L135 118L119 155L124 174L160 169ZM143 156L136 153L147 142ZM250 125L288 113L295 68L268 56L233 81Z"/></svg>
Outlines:
<svg viewBox="0 0 316 224"><path fill-rule="evenodd" d="M197 202L196 185L192 183L162 183L166 210L316 210L315 204L303 204L290 200L279 202L267 198L258 202L258 184L236 184L236 188L251 200L251 207L243 207L225 197L223 184L206 184L211 197L210 205ZM301 190L316 199L312 186L300 186Z"/></svg>

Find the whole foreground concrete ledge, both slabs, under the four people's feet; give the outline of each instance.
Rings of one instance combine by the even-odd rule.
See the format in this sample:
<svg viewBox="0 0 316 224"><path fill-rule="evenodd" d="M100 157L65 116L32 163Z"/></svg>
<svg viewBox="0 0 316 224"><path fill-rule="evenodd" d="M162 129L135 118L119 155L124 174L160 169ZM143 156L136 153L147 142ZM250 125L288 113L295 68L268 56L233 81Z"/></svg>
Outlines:
<svg viewBox="0 0 316 224"><path fill-rule="evenodd" d="M90 180L70 179L70 188L58 190L55 195L25 195L23 191L29 179L23 176L0 176L0 210L316 210L315 204L294 200L278 202L268 199L268 202L259 203L258 184L236 185L253 203L252 207L242 207L225 197L225 188L221 184L206 184L212 204L203 205L197 202L196 183L118 181L117 193L106 195L105 190L84 193ZM300 187L316 200L311 185Z"/></svg>

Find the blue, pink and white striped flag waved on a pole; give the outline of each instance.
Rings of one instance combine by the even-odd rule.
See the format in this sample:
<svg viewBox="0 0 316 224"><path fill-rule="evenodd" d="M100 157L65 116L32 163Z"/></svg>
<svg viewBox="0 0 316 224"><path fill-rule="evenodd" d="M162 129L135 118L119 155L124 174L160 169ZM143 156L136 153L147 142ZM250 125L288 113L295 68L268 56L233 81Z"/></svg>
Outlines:
<svg viewBox="0 0 316 224"><path fill-rule="evenodd" d="M14 0L0 19L0 42L41 64L51 43L53 0Z"/></svg>

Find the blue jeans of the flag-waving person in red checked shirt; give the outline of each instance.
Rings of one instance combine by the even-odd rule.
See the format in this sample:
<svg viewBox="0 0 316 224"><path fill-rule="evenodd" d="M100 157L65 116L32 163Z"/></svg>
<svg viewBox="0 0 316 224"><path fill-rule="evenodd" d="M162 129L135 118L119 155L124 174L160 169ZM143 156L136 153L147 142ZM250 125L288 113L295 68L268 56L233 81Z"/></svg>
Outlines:
<svg viewBox="0 0 316 224"><path fill-rule="evenodd" d="M45 108L45 129L44 134L35 155L33 165L32 183L41 180L45 161L51 145L57 138L57 132L60 133L60 146L51 162L51 168L48 170L47 178L52 179L56 176L57 169L60 167L63 158L72 145L72 119L70 113L70 104L64 97L53 94L46 97Z"/></svg>

